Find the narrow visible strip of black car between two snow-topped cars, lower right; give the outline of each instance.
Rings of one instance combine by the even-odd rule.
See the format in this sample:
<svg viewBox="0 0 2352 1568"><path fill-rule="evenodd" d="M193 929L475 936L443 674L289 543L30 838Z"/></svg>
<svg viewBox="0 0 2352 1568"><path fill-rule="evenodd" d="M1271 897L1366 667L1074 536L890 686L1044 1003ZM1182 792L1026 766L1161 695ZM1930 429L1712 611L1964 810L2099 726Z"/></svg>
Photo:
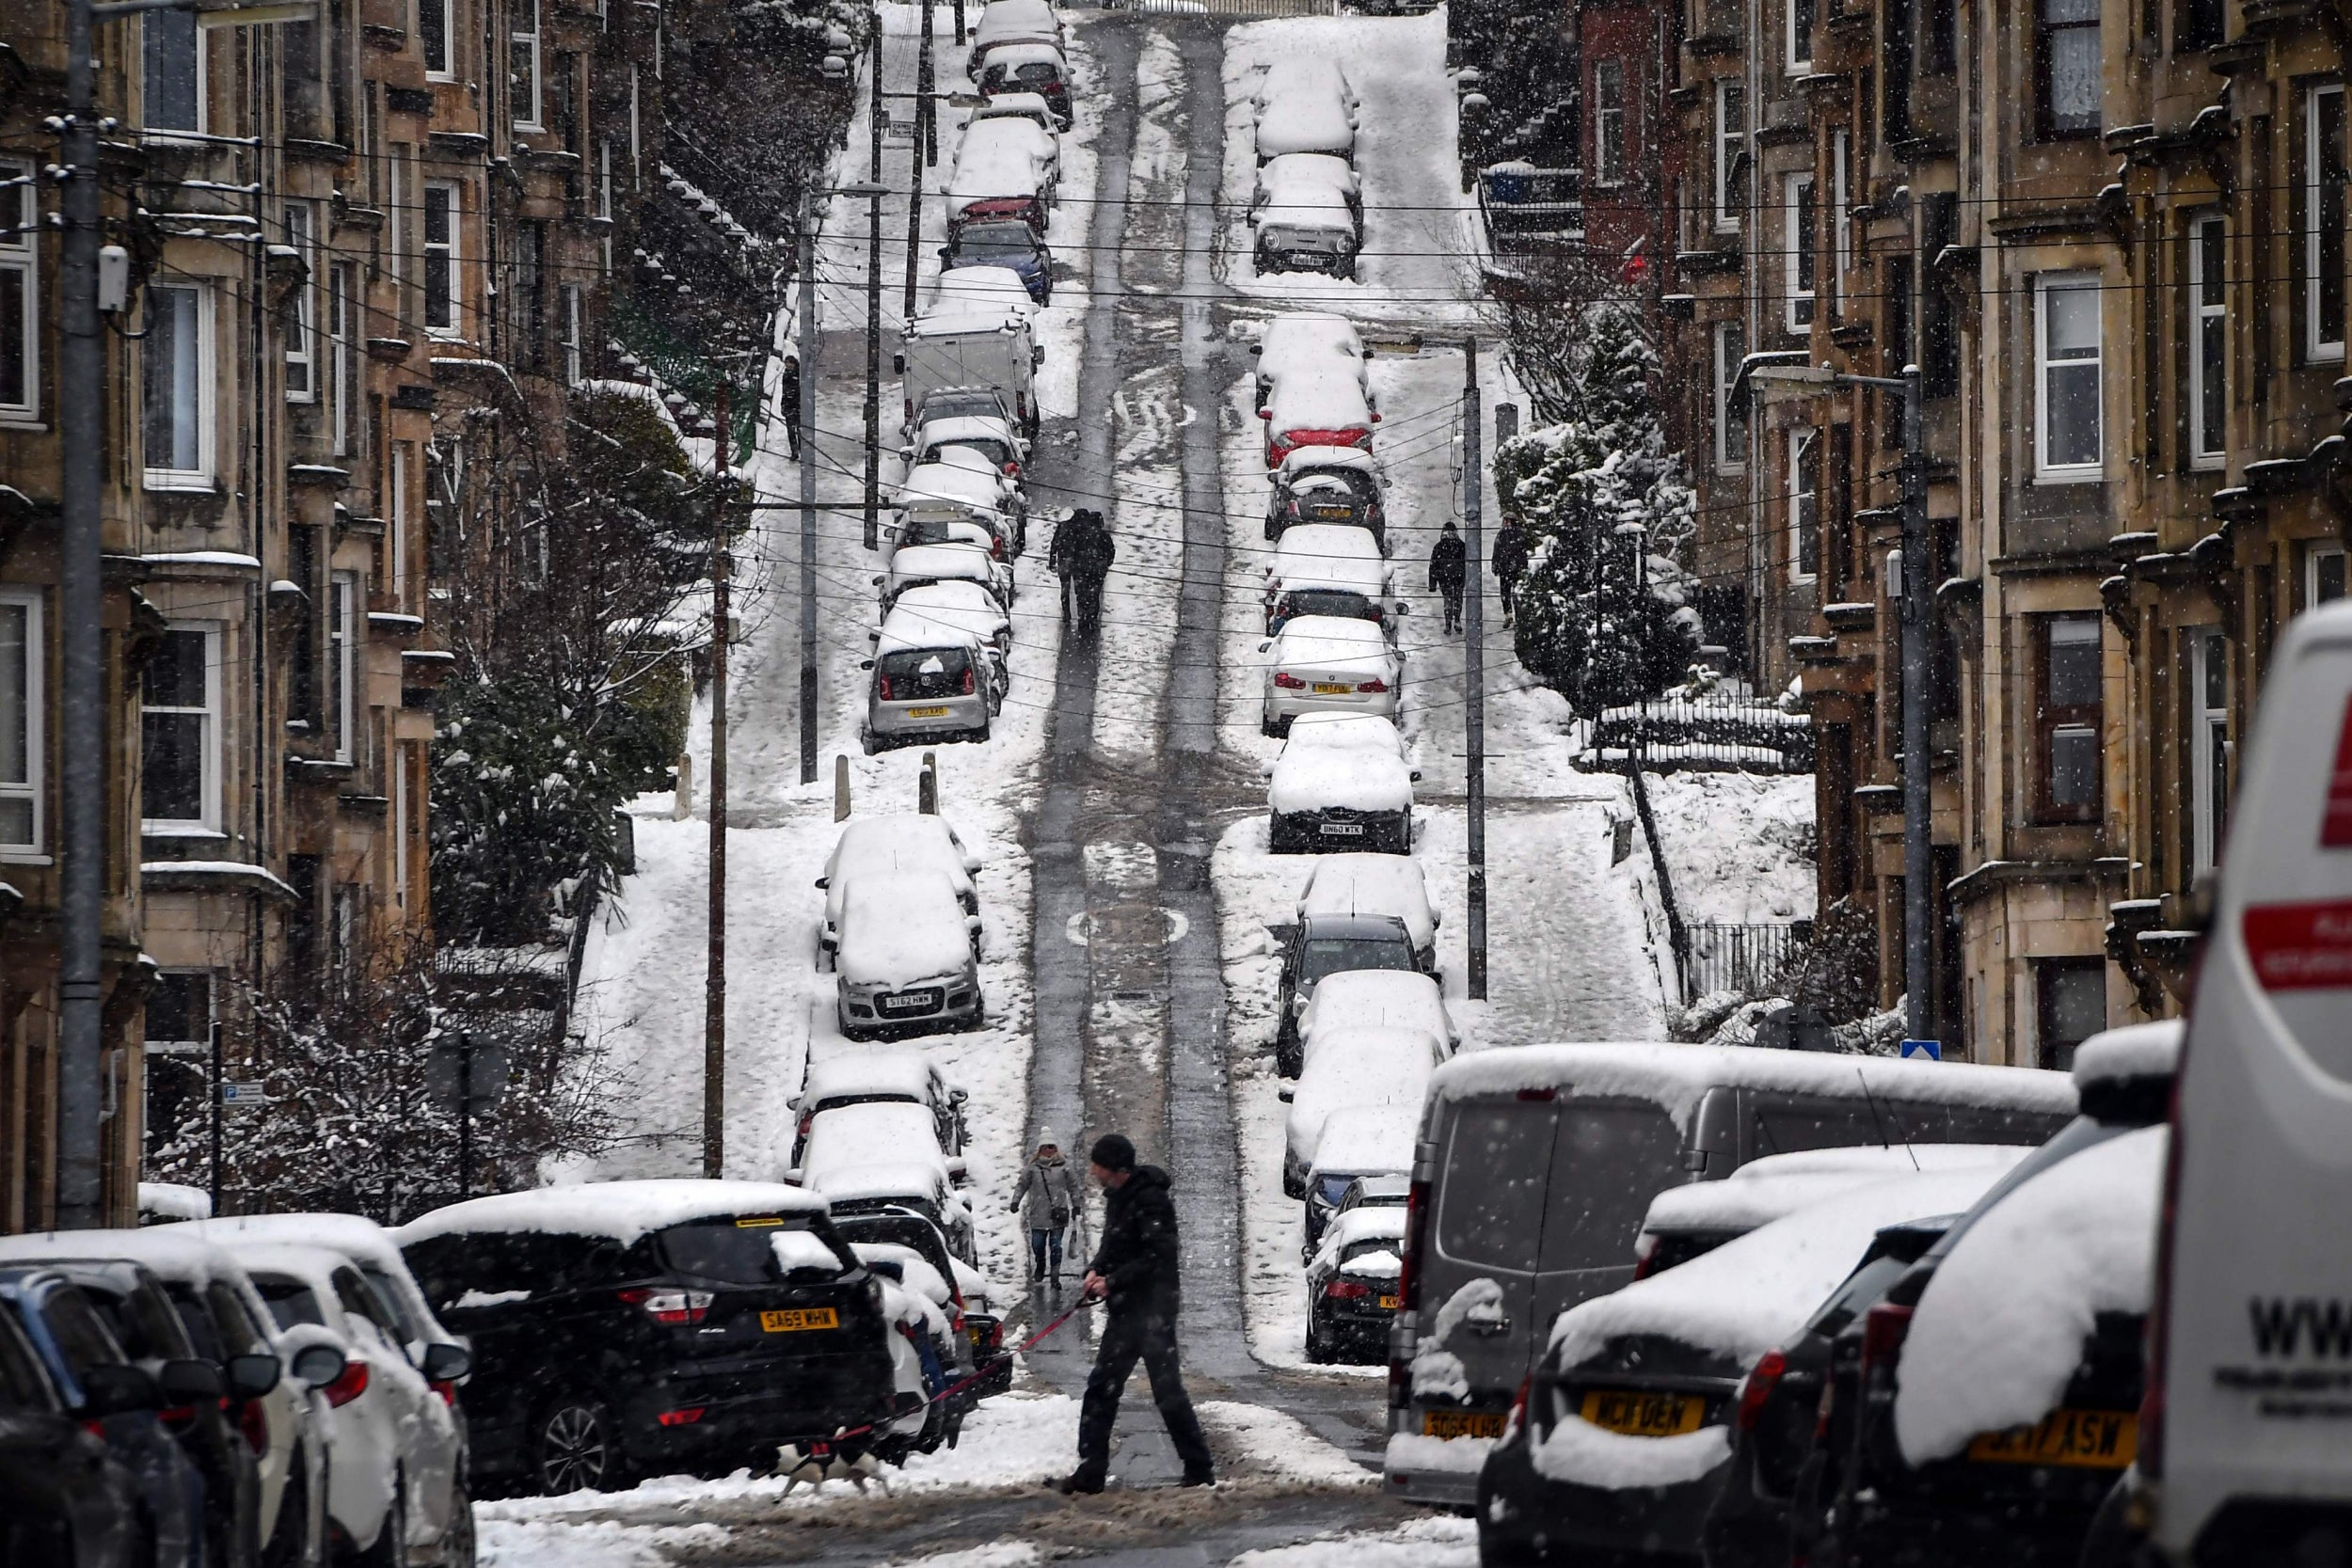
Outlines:
<svg viewBox="0 0 2352 1568"><path fill-rule="evenodd" d="M1790 1502L1799 1486L1818 1486L1813 1432L1837 1335L1875 1307L1947 1227L1950 1218L1882 1229L1804 1331L1748 1368L1731 1422L1731 1469L1698 1535L1708 1568L1788 1568Z"/></svg>

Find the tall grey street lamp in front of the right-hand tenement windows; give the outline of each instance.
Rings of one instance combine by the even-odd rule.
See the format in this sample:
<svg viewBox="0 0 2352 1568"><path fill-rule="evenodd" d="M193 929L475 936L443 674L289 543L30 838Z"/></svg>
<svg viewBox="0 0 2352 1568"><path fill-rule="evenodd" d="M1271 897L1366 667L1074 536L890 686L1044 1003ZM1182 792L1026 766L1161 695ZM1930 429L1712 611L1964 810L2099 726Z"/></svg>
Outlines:
<svg viewBox="0 0 2352 1568"><path fill-rule="evenodd" d="M1828 364L1804 364L1799 355L1750 355L1740 378L1766 397L1785 388L1795 395L1842 386L1870 386L1903 397L1903 1056L1940 1056L1933 1044L1933 933L1929 877L1933 877L1933 818L1929 795L1929 658L1926 632L1933 614L1933 545L1926 531L1926 437L1919 423L1919 367L1900 376L1851 376ZM1738 381L1733 381L1738 395Z"/></svg>

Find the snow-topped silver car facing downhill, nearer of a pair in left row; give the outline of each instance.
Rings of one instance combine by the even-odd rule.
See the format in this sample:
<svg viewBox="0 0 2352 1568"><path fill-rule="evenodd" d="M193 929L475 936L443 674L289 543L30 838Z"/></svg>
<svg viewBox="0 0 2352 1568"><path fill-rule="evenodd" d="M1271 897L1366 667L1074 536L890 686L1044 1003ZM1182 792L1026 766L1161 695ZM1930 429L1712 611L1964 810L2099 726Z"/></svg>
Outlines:
<svg viewBox="0 0 2352 1568"><path fill-rule="evenodd" d="M842 1034L976 1030L981 917L964 914L936 870L863 875L842 898L833 952Z"/></svg>

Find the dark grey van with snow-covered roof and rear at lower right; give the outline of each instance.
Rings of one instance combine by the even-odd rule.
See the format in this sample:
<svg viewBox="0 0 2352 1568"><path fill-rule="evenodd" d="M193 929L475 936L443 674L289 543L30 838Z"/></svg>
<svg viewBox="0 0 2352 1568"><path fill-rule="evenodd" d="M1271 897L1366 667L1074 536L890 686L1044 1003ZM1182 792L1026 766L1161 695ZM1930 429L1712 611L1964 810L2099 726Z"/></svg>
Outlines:
<svg viewBox="0 0 2352 1568"><path fill-rule="evenodd" d="M2074 1084L2037 1067L1679 1044L1454 1058L1430 1079L1414 1161L1385 1490L1477 1500L1552 1319L1632 1279L1668 1187L1792 1150L2032 1145L2072 1114Z"/></svg>

